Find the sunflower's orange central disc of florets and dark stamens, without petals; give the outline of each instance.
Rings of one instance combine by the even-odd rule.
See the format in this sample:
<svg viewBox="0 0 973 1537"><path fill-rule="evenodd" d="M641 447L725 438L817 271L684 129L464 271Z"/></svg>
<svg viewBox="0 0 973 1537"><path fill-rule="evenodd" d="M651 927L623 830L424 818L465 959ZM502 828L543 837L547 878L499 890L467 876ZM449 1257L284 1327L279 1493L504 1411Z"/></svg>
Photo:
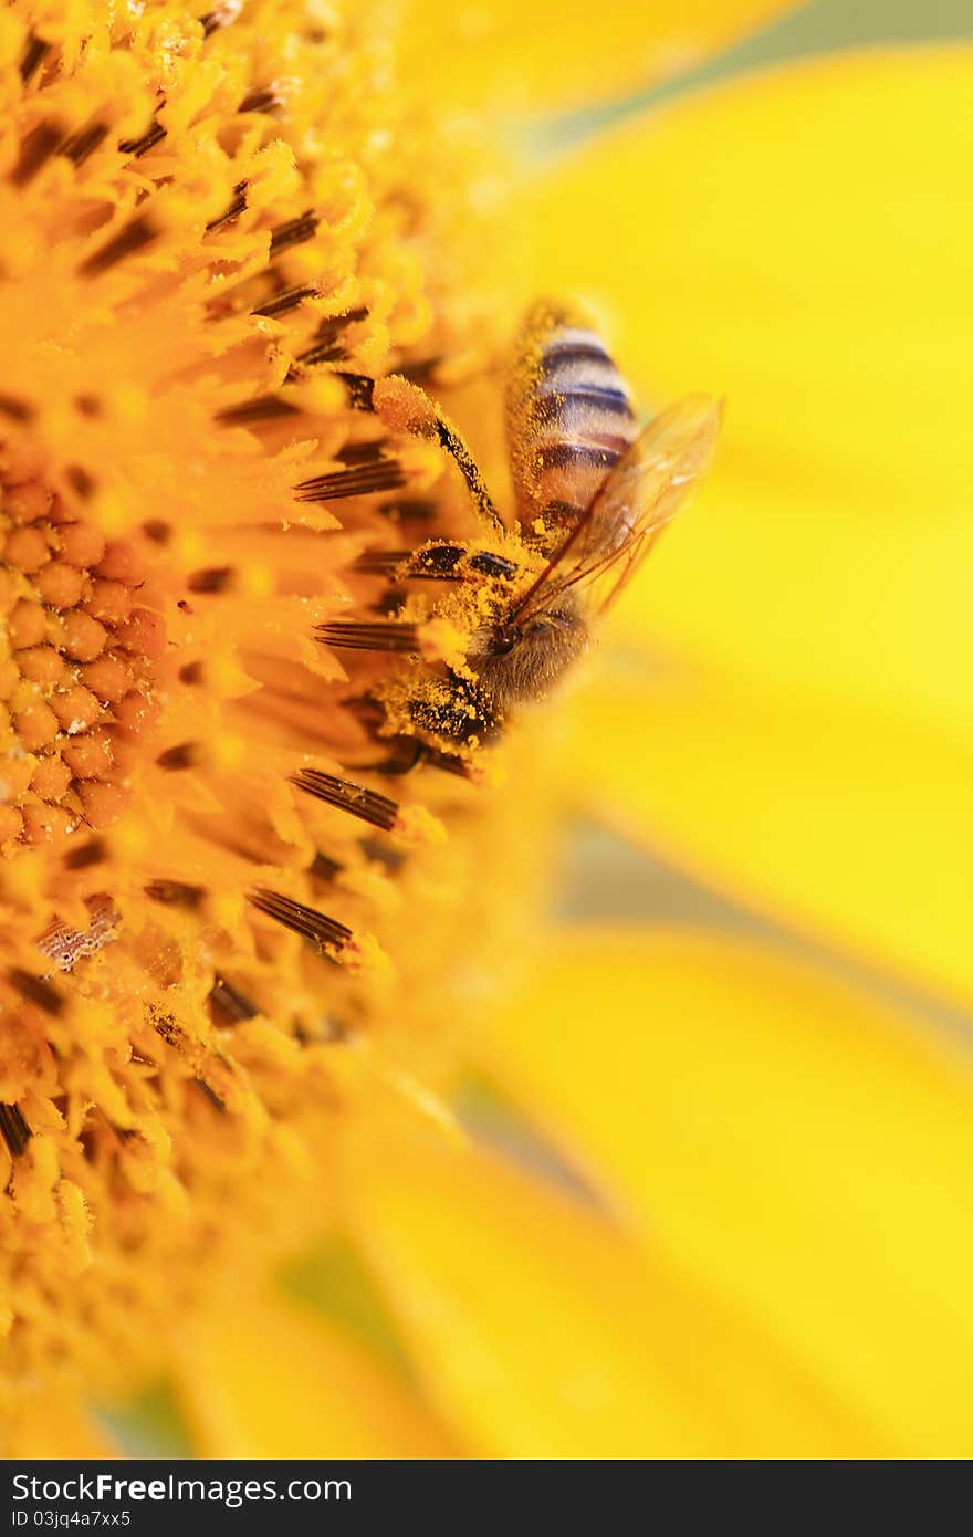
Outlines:
<svg viewBox="0 0 973 1537"><path fill-rule="evenodd" d="M320 636L374 601L366 547L461 503L370 390L489 340L483 215L440 188L490 161L397 88L380 6L54 0L5 9L0 54L0 1409L29 1446L25 1394L158 1371L215 1276L320 1225L360 1097L438 1113L417 1074L496 856L475 816L446 841L461 778L377 788L383 670Z"/></svg>

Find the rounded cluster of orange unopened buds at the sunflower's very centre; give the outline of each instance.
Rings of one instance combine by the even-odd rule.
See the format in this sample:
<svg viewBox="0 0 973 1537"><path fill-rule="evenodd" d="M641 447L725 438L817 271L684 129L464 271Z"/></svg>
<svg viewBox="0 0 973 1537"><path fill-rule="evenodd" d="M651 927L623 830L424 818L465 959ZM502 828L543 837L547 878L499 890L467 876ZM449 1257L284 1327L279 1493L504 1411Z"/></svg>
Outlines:
<svg viewBox="0 0 973 1537"><path fill-rule="evenodd" d="M154 721L158 619L144 564L8 453L0 472L0 844L60 842L125 808L134 741Z"/></svg>

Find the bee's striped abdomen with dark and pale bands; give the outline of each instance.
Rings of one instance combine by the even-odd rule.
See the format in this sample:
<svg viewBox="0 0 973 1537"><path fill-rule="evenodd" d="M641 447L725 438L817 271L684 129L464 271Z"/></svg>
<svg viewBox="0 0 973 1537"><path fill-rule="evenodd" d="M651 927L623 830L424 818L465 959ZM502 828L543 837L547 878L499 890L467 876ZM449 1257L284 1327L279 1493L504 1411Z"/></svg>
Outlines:
<svg viewBox="0 0 973 1537"><path fill-rule="evenodd" d="M626 383L598 335L564 310L527 318L507 397L521 523L567 529L638 437Z"/></svg>

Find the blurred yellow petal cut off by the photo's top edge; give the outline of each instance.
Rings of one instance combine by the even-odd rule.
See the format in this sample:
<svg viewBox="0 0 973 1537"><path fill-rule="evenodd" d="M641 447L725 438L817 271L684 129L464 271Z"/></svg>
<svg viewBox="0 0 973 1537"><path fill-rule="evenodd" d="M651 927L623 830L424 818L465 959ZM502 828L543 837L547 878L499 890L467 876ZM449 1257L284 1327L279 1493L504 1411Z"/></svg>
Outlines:
<svg viewBox="0 0 973 1537"><path fill-rule="evenodd" d="M403 74L467 106L556 111L610 101L699 63L793 9L785 0L409 0Z"/></svg>

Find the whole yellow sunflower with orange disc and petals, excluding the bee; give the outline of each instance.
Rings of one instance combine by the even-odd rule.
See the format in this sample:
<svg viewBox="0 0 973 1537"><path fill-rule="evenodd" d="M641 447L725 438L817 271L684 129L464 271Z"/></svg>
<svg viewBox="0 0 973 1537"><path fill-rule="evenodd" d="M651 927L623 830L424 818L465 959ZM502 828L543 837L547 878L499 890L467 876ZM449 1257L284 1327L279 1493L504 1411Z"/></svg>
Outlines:
<svg viewBox="0 0 973 1537"><path fill-rule="evenodd" d="M782 8L523 9L0 18L14 1456L970 1452L970 55L649 111ZM470 512L374 380L503 484L538 294L718 473L576 690L390 775L324 642ZM595 921L636 850L669 921Z"/></svg>

